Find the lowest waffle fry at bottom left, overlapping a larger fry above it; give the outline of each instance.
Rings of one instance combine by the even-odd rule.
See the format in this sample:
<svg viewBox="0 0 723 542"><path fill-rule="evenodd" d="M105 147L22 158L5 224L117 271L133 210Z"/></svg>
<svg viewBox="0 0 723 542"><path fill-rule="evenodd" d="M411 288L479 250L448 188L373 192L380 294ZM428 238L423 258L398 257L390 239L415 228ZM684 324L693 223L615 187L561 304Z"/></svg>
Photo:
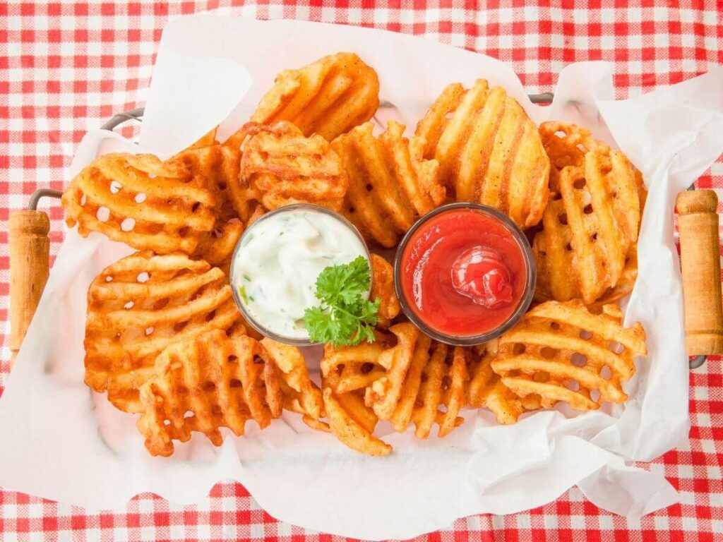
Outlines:
<svg viewBox="0 0 723 542"><path fill-rule="evenodd" d="M137 422L151 455L172 455L173 441L189 441L192 431L221 446L221 427L239 436L248 420L263 429L281 416L273 359L246 335L213 330L177 341L156 358L154 371L141 387Z"/></svg>

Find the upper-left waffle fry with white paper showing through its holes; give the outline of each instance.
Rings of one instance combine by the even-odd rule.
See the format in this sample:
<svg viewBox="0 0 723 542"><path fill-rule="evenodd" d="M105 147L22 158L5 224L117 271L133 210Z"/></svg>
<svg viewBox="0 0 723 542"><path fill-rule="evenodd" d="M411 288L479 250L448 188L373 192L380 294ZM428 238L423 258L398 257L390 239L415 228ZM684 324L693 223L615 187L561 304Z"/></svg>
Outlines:
<svg viewBox="0 0 723 542"><path fill-rule="evenodd" d="M180 160L114 153L75 176L62 204L67 225L84 237L98 231L139 250L192 254L213 230L216 199Z"/></svg>

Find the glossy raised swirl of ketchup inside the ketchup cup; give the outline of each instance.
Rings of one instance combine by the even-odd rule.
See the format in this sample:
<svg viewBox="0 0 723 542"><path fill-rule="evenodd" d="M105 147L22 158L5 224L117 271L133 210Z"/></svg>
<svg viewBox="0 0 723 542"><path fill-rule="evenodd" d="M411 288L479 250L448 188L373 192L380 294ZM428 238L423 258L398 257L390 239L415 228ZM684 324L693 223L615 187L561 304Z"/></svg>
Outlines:
<svg viewBox="0 0 723 542"><path fill-rule="evenodd" d="M510 270L500 252L489 246L472 246L455 259L452 285L457 293L487 309L512 303Z"/></svg>

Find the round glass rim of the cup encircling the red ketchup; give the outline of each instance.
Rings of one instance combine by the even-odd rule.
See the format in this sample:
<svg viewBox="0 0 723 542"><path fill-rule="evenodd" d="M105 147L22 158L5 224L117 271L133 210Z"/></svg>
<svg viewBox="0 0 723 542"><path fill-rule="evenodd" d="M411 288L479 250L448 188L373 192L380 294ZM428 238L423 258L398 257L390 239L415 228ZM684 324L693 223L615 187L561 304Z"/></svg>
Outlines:
<svg viewBox="0 0 723 542"><path fill-rule="evenodd" d="M502 324L497 326L494 330L491 330L487 333L482 333L481 335L463 335L463 336L455 336L455 335L446 335L445 333L442 333L440 331L435 330L432 327L429 327L414 311L414 309L411 307L410 303L407 301L407 299L404 296L404 292L401 286L401 267L402 267L402 254L404 253L404 249L406 245L408 244L409 239L414 235L414 232L416 232L420 226L422 226L424 223L427 222L432 217L435 217L437 215L442 214L443 212L447 212L450 210L455 209L471 209L471 210L477 210L479 212L482 212L486 215L492 216L493 218L496 218L497 220L504 225L510 233L512 233L512 236L515 238L515 241L517 241L518 245L520 246L520 249L522 250L523 259L525 262L525 269L527 271L527 280L525 284L525 290L523 293L523 296L520 300L520 304L518 305L517 309L513 312L513 314L510 315L510 317L505 320ZM502 214L502 212L496 210L493 207L489 207L488 205L479 205L477 203L468 203L468 202L457 202L457 203L450 203L448 205L442 205L442 207L437 207L435 210L432 210L428 212L426 215L424 215L422 218L416 221L414 225L412 225L411 228L409 228L409 231L405 234L405 236L402 238L401 243L398 246L397 254L394 257L394 291L397 294L397 297L399 298L399 304L402 307L402 310L404 311L404 314L406 314L407 318L414 324L416 327L419 327L420 330L422 330L424 333L429 335L429 337L432 337L432 339L440 341L440 343L446 343L448 345L457 345L457 346L471 346L471 345L479 345L482 343L487 343L488 340L492 340L495 337L499 337L504 333L505 331L509 330L513 325L515 325L523 314L527 311L529 308L531 302L532 302L532 296L534 296L534 290L535 290L535 283L537 279L537 268L535 266L535 260L532 256L532 249L529 244L529 241L527 241L527 238L525 234L522 232L518 226L513 223L512 220L507 215Z"/></svg>

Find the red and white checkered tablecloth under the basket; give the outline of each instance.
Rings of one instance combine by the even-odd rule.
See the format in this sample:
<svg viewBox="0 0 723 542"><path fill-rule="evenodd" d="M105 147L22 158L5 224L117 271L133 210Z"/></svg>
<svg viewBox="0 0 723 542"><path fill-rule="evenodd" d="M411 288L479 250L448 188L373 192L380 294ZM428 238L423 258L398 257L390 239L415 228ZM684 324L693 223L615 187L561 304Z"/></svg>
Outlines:
<svg viewBox="0 0 723 542"><path fill-rule="evenodd" d="M218 9L259 19L296 18L423 35L509 62L530 93L553 90L573 61L615 64L618 97L636 95L723 64L723 2L686 0L636 7L595 0L482 2L361 0L0 2L0 394L9 371L7 318L10 210L39 187L61 189L74 148L87 129L142 106L161 30L169 17ZM404 5L402 5L404 4ZM555 4L555 5L552 5ZM560 5L557 5L560 4ZM459 6L459 7L457 7ZM132 128L124 129L127 136ZM723 195L723 157L698 181ZM51 251L62 238L61 209L51 207ZM556 502L517 515L479 515L422 537L437 541L723 540L723 371L713 358L690 375L690 442L649 465L680 490L681 504L628 521L585 502L572 489ZM12 446L0 442L0 446ZM0 465L8 468L8 465ZM103 476L103 473L98 473ZM331 512L330 512L331 513ZM179 507L150 494L126 509L83 509L0 489L0 540L330 541L276 521L237 483L219 483L208 499Z"/></svg>

